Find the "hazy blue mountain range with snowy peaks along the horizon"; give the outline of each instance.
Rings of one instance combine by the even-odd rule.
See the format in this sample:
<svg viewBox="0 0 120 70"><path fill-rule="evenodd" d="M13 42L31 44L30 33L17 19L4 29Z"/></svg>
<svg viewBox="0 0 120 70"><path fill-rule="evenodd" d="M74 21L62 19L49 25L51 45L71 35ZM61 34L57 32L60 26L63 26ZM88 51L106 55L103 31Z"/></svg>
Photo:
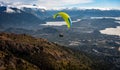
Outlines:
<svg viewBox="0 0 120 70"><path fill-rule="evenodd" d="M62 21L62 19L53 19L53 14L64 11L67 12L72 20L88 19L90 17L118 17L120 10L100 10L100 9L61 9L46 10L36 5L0 5L0 26L4 28L24 28L39 29L40 24L48 21ZM18 23L19 22L19 23Z"/></svg>

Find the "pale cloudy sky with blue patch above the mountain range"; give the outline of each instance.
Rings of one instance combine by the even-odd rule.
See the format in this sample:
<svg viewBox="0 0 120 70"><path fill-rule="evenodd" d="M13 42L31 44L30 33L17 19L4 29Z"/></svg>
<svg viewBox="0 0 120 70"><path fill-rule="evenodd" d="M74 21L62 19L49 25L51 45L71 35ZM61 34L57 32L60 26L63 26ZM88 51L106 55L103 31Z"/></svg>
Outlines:
<svg viewBox="0 0 120 70"><path fill-rule="evenodd" d="M111 8L118 9L120 0L0 0L13 4L36 4L47 9L53 8Z"/></svg>

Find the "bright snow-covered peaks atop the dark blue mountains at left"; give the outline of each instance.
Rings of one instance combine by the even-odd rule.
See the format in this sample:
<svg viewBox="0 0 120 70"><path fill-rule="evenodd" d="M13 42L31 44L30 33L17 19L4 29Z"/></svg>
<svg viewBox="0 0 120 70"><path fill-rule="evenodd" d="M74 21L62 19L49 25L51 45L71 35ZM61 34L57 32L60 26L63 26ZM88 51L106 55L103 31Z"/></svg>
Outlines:
<svg viewBox="0 0 120 70"><path fill-rule="evenodd" d="M22 3L0 2L0 7L2 6L6 7L6 10L4 10L4 12L7 13L21 13L21 11L25 11L25 8L29 8L33 11L41 11L41 12L45 12L46 10L45 7L37 6L35 4L31 5L31 4L22 4Z"/></svg>

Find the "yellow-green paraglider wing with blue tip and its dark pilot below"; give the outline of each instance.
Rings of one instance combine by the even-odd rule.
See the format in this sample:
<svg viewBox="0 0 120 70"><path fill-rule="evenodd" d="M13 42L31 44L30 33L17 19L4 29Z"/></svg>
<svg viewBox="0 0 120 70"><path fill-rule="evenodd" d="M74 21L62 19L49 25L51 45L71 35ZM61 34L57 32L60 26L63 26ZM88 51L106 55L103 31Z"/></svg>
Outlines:
<svg viewBox="0 0 120 70"><path fill-rule="evenodd" d="M58 13L56 13L56 14L53 15L53 18L55 19L58 16L61 16L64 19L64 21L66 22L66 25L67 25L68 29L70 29L70 27L72 26L72 21L71 21L70 16L67 13L65 13L65 12L58 12ZM59 37L63 37L63 36L64 35L62 33L59 34Z"/></svg>

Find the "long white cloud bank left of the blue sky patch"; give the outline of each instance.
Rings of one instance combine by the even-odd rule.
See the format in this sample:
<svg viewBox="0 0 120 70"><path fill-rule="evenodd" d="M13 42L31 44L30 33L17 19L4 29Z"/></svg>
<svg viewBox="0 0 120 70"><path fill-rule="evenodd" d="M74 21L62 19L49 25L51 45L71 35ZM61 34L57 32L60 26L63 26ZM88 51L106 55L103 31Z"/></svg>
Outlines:
<svg viewBox="0 0 120 70"><path fill-rule="evenodd" d="M0 0L6 3L37 4L46 8L64 7L67 5L91 3L93 0Z"/></svg>

